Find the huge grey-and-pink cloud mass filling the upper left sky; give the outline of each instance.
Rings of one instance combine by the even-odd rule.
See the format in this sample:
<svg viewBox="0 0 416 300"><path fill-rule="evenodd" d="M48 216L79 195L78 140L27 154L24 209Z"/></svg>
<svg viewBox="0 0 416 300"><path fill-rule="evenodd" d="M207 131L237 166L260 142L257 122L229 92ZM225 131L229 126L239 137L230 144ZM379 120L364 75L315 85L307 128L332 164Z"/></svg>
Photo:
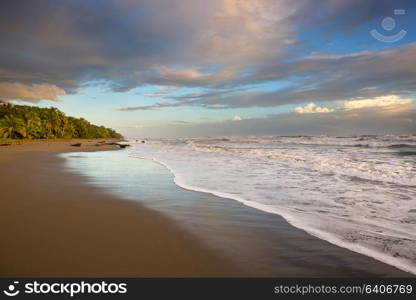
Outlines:
<svg viewBox="0 0 416 300"><path fill-rule="evenodd" d="M210 86L276 58L292 27L284 3L262 0L41 1L1 1L0 80L71 92L97 80L115 91Z"/></svg>

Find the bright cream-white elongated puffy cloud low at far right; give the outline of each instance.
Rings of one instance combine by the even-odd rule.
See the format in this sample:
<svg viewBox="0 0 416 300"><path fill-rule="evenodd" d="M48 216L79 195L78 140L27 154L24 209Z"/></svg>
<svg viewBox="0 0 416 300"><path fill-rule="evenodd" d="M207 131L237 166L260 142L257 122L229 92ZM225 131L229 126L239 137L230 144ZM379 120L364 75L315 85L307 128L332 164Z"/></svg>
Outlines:
<svg viewBox="0 0 416 300"><path fill-rule="evenodd" d="M344 101L343 108L346 110L363 108L395 108L412 102L412 99L401 98L397 95L386 95L371 99L347 100Z"/></svg>

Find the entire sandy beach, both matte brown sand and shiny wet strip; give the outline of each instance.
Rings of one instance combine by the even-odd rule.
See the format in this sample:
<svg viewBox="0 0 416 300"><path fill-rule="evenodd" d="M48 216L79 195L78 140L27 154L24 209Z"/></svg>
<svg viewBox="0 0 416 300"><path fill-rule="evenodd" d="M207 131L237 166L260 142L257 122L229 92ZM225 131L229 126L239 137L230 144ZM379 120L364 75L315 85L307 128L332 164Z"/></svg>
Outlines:
<svg viewBox="0 0 416 300"><path fill-rule="evenodd" d="M183 190L126 150L71 154L96 175L76 173L60 153L96 141L70 143L0 147L0 277L411 276L278 215Z"/></svg>

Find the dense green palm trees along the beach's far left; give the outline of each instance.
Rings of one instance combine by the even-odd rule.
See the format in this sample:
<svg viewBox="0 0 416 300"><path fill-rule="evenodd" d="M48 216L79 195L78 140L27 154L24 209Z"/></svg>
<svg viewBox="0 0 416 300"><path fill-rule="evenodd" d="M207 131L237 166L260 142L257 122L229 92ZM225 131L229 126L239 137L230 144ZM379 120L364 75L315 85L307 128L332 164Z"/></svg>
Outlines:
<svg viewBox="0 0 416 300"><path fill-rule="evenodd" d="M0 139L122 138L87 120L67 117L57 108L0 102Z"/></svg>

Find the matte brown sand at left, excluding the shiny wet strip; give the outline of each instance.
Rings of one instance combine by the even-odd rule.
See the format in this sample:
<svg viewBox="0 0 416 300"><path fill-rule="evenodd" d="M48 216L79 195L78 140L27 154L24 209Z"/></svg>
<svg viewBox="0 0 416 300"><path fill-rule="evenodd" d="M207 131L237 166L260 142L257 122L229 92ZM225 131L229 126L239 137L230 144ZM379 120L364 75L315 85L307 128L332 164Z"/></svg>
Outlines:
<svg viewBox="0 0 416 300"><path fill-rule="evenodd" d="M0 277L204 277L243 273L161 214L84 184L56 154L96 141L0 149Z"/></svg>

